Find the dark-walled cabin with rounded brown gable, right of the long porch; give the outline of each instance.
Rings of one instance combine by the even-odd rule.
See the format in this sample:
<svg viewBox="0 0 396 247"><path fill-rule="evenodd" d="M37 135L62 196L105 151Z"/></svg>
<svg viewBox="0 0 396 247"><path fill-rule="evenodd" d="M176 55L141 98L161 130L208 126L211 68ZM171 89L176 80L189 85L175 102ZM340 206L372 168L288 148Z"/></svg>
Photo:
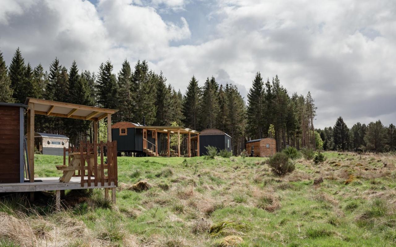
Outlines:
<svg viewBox="0 0 396 247"><path fill-rule="evenodd" d="M215 128L202 130L200 134L200 155L206 155L207 146L217 147L217 151L223 149L232 151L231 136Z"/></svg>

